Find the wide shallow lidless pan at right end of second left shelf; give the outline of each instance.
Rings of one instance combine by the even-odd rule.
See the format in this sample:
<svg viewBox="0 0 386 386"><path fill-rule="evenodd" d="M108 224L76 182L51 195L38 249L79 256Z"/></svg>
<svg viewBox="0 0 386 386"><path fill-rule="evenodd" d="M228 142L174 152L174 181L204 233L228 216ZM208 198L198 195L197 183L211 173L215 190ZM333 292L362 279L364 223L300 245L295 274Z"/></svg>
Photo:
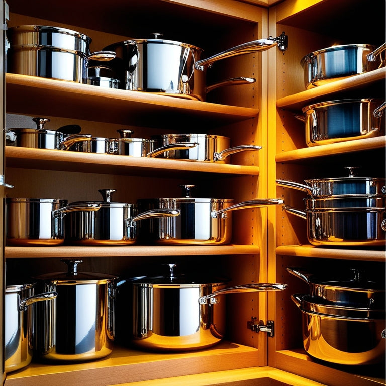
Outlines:
<svg viewBox="0 0 386 386"><path fill-rule="evenodd" d="M228 163L231 154L246 150L260 150L261 146L240 145L230 147L231 139L209 134L162 134L154 135L156 149L148 157ZM175 146L182 146L175 149ZM183 147L184 146L184 147Z"/></svg>

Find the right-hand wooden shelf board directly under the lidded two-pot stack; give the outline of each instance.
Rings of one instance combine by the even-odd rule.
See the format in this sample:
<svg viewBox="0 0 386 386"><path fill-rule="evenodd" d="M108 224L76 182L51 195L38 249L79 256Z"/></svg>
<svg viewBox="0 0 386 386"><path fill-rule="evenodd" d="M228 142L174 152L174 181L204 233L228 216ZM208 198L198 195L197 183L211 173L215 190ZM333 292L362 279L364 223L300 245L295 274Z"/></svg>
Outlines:
<svg viewBox="0 0 386 386"><path fill-rule="evenodd" d="M339 260L386 261L386 252L380 249L341 249L340 247L326 248L314 245L285 245L277 247L276 254Z"/></svg>

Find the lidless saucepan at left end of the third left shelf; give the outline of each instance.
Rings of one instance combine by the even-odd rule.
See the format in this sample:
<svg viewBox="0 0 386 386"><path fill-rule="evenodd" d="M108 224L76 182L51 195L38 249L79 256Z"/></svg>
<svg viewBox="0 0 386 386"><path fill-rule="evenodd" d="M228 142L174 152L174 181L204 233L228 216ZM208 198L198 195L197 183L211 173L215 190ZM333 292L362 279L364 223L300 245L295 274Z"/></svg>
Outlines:
<svg viewBox="0 0 386 386"><path fill-rule="evenodd" d="M63 199L6 198L7 246L56 246L64 242L64 216L98 205L67 205Z"/></svg>

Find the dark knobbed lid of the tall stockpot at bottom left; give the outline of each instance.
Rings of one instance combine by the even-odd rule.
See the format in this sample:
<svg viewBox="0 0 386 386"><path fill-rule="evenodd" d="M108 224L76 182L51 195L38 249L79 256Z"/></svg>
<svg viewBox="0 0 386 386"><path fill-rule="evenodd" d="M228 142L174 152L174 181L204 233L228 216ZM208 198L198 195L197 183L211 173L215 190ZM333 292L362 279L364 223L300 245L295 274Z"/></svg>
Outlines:
<svg viewBox="0 0 386 386"><path fill-rule="evenodd" d="M78 272L77 265L82 263L83 260L67 260L60 259L67 264L67 272L53 272L47 273L36 278L39 280L71 280L71 281L106 281L117 279L117 276L106 273L94 273L94 272Z"/></svg>

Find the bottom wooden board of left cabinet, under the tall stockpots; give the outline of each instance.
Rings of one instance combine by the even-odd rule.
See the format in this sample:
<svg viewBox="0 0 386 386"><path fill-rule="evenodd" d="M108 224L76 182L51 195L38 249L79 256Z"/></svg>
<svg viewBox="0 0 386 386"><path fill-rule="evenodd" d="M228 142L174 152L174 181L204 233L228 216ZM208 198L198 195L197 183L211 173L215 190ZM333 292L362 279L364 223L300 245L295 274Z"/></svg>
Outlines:
<svg viewBox="0 0 386 386"><path fill-rule="evenodd" d="M106 386L114 383L146 381L212 371L257 366L258 350L230 342L210 349L150 353L115 347L106 358L77 364L31 363L7 375L5 386Z"/></svg>

